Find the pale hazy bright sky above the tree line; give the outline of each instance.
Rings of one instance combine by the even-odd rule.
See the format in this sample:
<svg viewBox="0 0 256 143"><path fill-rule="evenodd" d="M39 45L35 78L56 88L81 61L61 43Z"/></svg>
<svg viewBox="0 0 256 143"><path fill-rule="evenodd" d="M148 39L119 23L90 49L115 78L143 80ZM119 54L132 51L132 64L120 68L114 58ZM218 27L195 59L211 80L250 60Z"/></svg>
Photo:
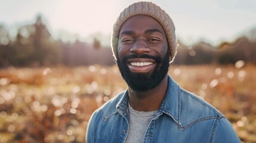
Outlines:
<svg viewBox="0 0 256 143"><path fill-rule="evenodd" d="M136 0L138 1L138 0ZM56 39L72 41L78 36L91 42L95 36L110 45L118 14L134 0L0 0L0 24L6 27L34 23L38 14ZM232 41L256 27L255 0L153 0L172 18L177 38L193 44L217 45ZM67 36L64 36L67 35Z"/></svg>

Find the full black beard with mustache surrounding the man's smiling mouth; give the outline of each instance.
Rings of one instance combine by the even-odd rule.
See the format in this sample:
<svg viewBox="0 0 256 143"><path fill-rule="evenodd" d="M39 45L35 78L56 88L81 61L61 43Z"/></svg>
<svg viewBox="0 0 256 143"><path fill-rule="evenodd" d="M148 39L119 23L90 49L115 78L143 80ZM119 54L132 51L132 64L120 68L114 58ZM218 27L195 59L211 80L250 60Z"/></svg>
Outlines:
<svg viewBox="0 0 256 143"><path fill-rule="evenodd" d="M130 58L150 58L156 61L155 69L150 73L133 73L129 70L127 65L127 60ZM121 72L121 75L129 88L133 91L143 92L149 91L150 89L155 88L159 85L159 83L164 79L166 74L168 73L169 68L169 48L166 52L164 58L160 56L152 56L152 55L137 55L132 54L122 58L118 57L116 63L118 64L118 68Z"/></svg>

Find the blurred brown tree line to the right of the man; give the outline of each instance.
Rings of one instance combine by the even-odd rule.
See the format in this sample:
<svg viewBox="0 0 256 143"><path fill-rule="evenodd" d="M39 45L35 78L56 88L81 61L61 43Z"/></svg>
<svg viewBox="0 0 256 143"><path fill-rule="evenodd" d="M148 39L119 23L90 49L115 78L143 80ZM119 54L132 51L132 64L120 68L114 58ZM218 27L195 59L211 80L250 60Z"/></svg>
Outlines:
<svg viewBox="0 0 256 143"><path fill-rule="evenodd" d="M218 47L205 42L187 47L180 42L174 64L235 64L240 60L256 64L255 54L256 39L249 40L245 36L232 43L223 42Z"/></svg>

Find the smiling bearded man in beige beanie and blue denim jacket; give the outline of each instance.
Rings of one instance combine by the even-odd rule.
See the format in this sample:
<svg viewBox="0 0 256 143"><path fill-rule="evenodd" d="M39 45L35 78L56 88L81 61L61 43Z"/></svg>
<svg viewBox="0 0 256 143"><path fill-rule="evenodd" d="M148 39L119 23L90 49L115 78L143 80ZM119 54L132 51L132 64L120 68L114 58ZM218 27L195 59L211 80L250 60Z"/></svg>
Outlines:
<svg viewBox="0 0 256 143"><path fill-rule="evenodd" d="M240 142L223 114L168 76L176 49L174 23L158 5L121 12L112 50L128 89L92 114L87 143Z"/></svg>

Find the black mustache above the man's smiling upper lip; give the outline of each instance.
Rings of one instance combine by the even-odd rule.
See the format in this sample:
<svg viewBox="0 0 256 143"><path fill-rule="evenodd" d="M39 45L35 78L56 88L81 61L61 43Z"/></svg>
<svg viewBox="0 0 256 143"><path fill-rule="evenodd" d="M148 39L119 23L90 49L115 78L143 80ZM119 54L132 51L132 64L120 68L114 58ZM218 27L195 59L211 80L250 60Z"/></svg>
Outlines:
<svg viewBox="0 0 256 143"><path fill-rule="evenodd" d="M159 55L147 55L147 54L132 54L132 55L127 55L122 57L122 59L120 59L122 62L126 62L127 60L131 59L131 58L149 58L152 60L155 60L156 63L161 63L162 58Z"/></svg>

